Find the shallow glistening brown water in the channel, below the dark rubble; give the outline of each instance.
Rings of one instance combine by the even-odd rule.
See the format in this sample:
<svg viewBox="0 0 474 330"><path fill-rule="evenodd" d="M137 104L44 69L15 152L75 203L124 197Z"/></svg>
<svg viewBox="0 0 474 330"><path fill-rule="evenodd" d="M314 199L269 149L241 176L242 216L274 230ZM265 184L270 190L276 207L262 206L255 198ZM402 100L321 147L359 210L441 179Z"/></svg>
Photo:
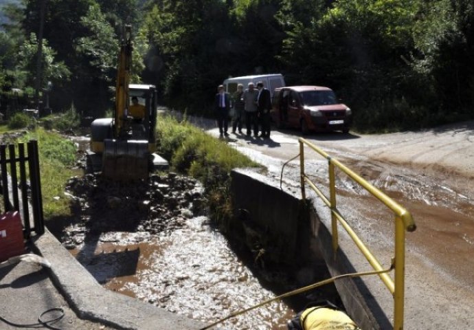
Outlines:
<svg viewBox="0 0 474 330"><path fill-rule="evenodd" d="M143 234L134 237L124 232L107 232L97 241L71 253L81 259L84 250L94 250L80 261L104 287L188 318L214 322L275 296L265 288L266 281L254 276L236 256L225 237L212 229L207 217L188 219L183 228L145 241ZM267 276L274 283L285 281L283 274ZM286 320L295 314L286 303L260 307L227 320L222 327L286 329Z"/></svg>

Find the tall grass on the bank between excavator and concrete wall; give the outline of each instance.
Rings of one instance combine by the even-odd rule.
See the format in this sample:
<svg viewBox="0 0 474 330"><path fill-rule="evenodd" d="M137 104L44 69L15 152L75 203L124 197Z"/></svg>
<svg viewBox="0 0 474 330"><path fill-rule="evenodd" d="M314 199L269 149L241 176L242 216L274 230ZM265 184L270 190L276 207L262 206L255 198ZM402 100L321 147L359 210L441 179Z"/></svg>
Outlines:
<svg viewBox="0 0 474 330"><path fill-rule="evenodd" d="M210 216L225 230L232 217L230 171L237 167L259 167L222 140L206 134L185 120L161 116L157 124L158 152L170 159L173 170L199 179L205 186Z"/></svg>

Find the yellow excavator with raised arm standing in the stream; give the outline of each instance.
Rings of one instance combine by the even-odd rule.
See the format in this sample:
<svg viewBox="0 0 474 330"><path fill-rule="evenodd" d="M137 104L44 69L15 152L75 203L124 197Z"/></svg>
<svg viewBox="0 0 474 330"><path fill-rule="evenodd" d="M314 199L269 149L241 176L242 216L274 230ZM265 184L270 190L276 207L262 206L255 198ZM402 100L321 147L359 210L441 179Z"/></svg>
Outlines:
<svg viewBox="0 0 474 330"><path fill-rule="evenodd" d="M91 123L88 166L117 181L147 179L150 170L166 169L168 162L156 153L157 90L154 85L130 84L132 62L131 26L120 41L113 118ZM142 118L131 114L131 100L139 102ZM135 104L133 104L135 105Z"/></svg>

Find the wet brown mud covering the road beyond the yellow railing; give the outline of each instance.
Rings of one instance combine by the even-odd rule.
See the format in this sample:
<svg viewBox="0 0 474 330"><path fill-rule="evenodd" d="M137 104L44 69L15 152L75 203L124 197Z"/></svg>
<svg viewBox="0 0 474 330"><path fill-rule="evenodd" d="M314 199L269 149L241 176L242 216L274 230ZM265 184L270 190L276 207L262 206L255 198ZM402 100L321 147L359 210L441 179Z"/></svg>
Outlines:
<svg viewBox="0 0 474 330"><path fill-rule="evenodd" d="M410 252L436 264L436 272L474 292L474 197L469 179L439 170L434 176L421 168L388 162L338 159L411 212L417 229L406 235ZM327 184L326 170L317 167L313 179ZM354 225L363 229L365 241L392 242L392 212L344 173L337 173L336 184L339 205L350 214Z"/></svg>

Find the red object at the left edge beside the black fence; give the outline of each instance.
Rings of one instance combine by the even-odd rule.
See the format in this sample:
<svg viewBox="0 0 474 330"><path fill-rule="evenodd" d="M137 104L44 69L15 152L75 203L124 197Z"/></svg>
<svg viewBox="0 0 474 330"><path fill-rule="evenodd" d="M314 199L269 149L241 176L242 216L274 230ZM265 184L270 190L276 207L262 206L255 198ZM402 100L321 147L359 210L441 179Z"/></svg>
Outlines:
<svg viewBox="0 0 474 330"><path fill-rule="evenodd" d="M0 217L0 262L25 253L23 225L18 211Z"/></svg>

